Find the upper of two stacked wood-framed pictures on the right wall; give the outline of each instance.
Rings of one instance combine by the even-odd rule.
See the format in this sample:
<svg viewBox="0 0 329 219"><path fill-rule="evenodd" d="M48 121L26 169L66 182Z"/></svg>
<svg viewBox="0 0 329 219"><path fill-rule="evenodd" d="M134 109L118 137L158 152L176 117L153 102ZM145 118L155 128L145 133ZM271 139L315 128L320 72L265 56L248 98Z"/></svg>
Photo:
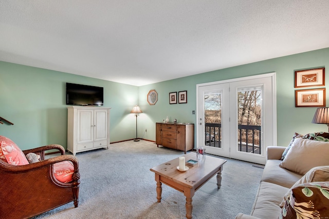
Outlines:
<svg viewBox="0 0 329 219"><path fill-rule="evenodd" d="M295 88L324 86L324 68L295 71Z"/></svg>

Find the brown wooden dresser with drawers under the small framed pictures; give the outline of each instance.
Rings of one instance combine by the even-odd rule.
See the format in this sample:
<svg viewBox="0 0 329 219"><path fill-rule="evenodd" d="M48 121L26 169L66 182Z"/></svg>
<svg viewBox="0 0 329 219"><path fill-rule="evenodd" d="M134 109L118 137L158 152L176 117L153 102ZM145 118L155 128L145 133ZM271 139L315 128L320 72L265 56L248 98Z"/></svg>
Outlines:
<svg viewBox="0 0 329 219"><path fill-rule="evenodd" d="M194 148L194 124L156 123L155 142L157 146L186 151Z"/></svg>

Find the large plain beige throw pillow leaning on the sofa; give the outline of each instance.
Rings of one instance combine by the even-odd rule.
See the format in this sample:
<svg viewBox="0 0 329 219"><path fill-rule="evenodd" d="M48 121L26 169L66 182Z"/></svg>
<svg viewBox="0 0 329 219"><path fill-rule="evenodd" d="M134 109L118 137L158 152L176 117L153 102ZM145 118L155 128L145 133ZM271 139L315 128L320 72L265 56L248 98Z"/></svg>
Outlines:
<svg viewBox="0 0 329 219"><path fill-rule="evenodd" d="M329 142L296 138L279 166L304 175L313 167L329 166L328 157Z"/></svg>

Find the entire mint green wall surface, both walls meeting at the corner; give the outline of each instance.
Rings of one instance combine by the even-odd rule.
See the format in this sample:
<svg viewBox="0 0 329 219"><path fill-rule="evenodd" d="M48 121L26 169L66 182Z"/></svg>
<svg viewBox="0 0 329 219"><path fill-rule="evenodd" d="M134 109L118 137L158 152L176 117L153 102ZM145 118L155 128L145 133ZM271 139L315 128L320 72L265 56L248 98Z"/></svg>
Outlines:
<svg viewBox="0 0 329 219"><path fill-rule="evenodd" d="M64 72L0 62L0 116L14 125L0 125L0 135L11 138L22 149L47 144L66 148L67 109L65 83L104 87L104 106L111 109L111 142L135 138L135 104L138 137L155 141L155 123L166 116L178 122L196 124L196 85L225 79L277 72L278 145L286 146L294 132L327 131L312 124L316 108L295 107L294 71L329 66L329 48L268 59L262 62L221 69L145 86L131 86ZM329 78L325 77L326 85ZM149 105L147 94L155 89L158 102ZM188 91L187 104L169 104L169 93ZM327 95L328 96L328 95ZM145 128L148 129L145 132Z"/></svg>

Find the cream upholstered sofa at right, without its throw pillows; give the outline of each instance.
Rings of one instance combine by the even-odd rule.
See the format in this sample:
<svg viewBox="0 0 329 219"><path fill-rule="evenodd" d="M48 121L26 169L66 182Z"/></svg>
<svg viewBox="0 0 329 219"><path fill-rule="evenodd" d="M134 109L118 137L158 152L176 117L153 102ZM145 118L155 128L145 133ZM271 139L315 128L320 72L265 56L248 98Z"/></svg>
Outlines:
<svg viewBox="0 0 329 219"><path fill-rule="evenodd" d="M305 140L305 141L317 142L317 144L319 143L319 141L312 141L312 140ZM329 143L326 144L328 145ZM291 150L291 148L288 153L294 152L293 150ZM290 171L288 169L289 168L293 169L294 167L291 168L288 165L287 165L289 167L288 169L281 167L282 165L280 164L283 162L281 160L281 156L285 151L285 149L286 147L279 147L279 146L267 147L267 151L266 151L267 161L264 167L263 175L261 177L259 190L255 197L253 207L251 209L251 213L250 215L239 213L238 215L236 215L235 217L236 219L282 218L282 207L280 207L280 204L281 205L285 204L285 201L283 200L285 195L291 192L290 188L295 188L297 185L300 185L302 183L329 181L329 166L315 166L314 168L311 168L309 171L307 171L306 174L300 174L295 171ZM327 148L327 150L329 151L329 148ZM300 156L300 159L302 160L300 160L298 156ZM305 161L305 159L303 159L303 155L298 154L298 156L294 157L296 161L300 163L307 162ZM327 154L324 154L323 156L325 157L327 156ZM289 154L289 157L293 157L293 155ZM321 161L319 164L322 165L328 163L329 157L327 157L326 160L327 161ZM327 165L329 165L329 163ZM327 201L328 201L327 206L329 206L329 200Z"/></svg>

